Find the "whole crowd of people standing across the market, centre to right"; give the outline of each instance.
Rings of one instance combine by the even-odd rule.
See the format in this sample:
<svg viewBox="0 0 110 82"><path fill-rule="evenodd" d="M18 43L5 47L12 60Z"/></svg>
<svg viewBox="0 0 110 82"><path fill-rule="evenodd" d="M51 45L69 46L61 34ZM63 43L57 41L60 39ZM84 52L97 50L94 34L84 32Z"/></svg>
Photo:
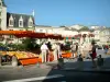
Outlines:
<svg viewBox="0 0 110 82"><path fill-rule="evenodd" d="M58 60L59 57L62 57L62 49L65 46L65 44L61 43L43 43L41 46L42 51L42 62L46 62L47 55L50 51L53 51L54 61ZM67 47L66 47L67 48ZM89 44L79 44L79 43L73 43L69 45L69 50L73 54L72 58L77 58L78 56L81 56L82 58L90 58L92 60L94 67L96 67L95 59L97 58L97 51L96 51L96 43L91 42ZM108 47L105 47L106 52L108 51Z"/></svg>

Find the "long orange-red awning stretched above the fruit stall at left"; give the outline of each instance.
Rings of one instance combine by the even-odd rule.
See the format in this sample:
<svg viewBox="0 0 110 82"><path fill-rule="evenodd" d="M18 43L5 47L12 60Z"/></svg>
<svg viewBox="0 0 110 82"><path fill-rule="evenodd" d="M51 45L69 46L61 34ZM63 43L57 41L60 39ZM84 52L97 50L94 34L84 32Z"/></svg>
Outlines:
<svg viewBox="0 0 110 82"><path fill-rule="evenodd" d="M0 31L0 35L14 35L16 37L63 39L62 35L35 33L32 31Z"/></svg>

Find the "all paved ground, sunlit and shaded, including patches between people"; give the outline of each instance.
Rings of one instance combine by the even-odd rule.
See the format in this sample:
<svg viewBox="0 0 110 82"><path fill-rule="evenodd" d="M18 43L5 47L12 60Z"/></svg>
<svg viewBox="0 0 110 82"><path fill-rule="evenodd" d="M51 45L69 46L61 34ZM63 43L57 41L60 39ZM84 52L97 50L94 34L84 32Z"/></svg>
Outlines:
<svg viewBox="0 0 110 82"><path fill-rule="evenodd" d="M98 54L102 54L98 52ZM103 54L102 54L103 55ZM110 68L109 56L103 55L105 68ZM110 82L110 71L77 71L53 69L57 62L32 65L26 67L0 68L0 82ZM65 60L65 68L75 68L76 60ZM85 68L91 68L91 60L85 59Z"/></svg>

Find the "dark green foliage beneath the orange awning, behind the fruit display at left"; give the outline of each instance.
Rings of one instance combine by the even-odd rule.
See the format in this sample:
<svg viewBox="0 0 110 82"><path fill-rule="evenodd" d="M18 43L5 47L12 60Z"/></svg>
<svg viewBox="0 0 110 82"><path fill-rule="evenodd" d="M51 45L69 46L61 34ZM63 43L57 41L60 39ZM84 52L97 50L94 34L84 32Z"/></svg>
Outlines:
<svg viewBox="0 0 110 82"><path fill-rule="evenodd" d="M34 38L25 38L22 40L22 44L2 44L0 46L8 47L9 50L33 50L38 49L41 46L35 43Z"/></svg>

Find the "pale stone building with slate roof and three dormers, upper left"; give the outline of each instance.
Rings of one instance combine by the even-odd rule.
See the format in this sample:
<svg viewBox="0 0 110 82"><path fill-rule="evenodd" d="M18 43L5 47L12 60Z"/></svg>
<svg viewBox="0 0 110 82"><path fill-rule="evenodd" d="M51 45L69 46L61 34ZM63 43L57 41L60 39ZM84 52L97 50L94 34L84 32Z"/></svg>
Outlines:
<svg viewBox="0 0 110 82"><path fill-rule="evenodd" d="M34 15L7 12L4 0L0 0L0 30L24 31L35 26Z"/></svg>

